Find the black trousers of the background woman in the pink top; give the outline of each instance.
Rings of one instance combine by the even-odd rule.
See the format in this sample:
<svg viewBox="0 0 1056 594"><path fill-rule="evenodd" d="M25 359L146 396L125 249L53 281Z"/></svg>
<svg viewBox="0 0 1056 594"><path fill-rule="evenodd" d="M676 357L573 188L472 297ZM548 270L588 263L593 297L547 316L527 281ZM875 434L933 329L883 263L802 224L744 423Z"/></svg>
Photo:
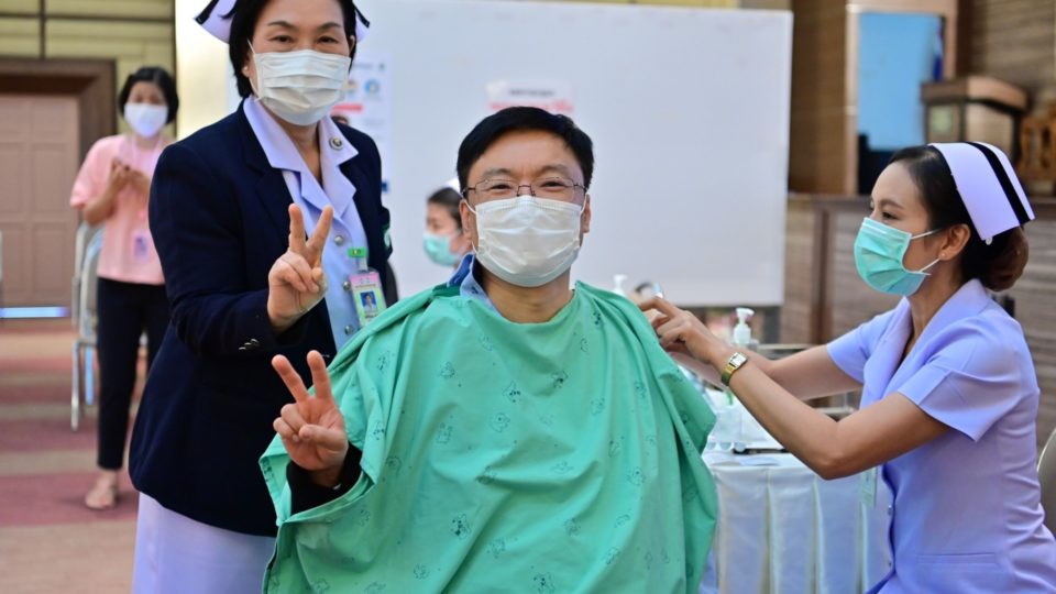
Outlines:
<svg viewBox="0 0 1056 594"><path fill-rule="evenodd" d="M140 336L146 330L150 370L168 327L168 300L162 285L139 285L99 278L99 455L100 469L118 470L124 462L129 408L135 389Z"/></svg>

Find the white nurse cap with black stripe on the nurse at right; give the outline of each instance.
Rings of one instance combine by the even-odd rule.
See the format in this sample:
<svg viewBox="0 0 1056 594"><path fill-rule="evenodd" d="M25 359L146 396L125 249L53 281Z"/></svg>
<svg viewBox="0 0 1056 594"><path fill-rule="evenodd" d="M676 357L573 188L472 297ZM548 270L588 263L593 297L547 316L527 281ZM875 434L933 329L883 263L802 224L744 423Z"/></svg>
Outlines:
<svg viewBox="0 0 1056 594"><path fill-rule="evenodd" d="M979 238L990 243L994 235L1034 220L1034 209L1015 177L1009 157L982 142L933 143L943 154L957 191L965 202Z"/></svg>

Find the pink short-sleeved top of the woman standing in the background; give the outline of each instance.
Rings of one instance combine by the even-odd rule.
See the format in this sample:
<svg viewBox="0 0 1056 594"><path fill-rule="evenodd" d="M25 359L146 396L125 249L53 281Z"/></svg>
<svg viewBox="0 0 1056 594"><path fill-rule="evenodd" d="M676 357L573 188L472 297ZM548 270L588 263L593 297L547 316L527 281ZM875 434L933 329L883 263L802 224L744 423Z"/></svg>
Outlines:
<svg viewBox="0 0 1056 594"><path fill-rule="evenodd" d="M114 158L153 177L157 157L167 144L160 142L154 148L140 148L125 134L99 139L88 151L85 164L77 174L69 205L84 208L89 200L102 195ZM148 198L131 183L118 193L113 212L103 223L106 228L98 267L100 277L143 285L165 283L146 218Z"/></svg>

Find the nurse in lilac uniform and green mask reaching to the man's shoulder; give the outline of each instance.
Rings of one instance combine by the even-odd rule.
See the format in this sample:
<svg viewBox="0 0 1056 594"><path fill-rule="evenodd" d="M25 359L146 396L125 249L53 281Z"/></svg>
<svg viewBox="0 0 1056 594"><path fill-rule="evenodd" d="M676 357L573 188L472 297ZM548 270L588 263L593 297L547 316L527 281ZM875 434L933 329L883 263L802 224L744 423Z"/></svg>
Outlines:
<svg viewBox="0 0 1056 594"><path fill-rule="evenodd" d="M770 361L663 299L661 344L736 393L825 479L894 495L894 563L870 592L1056 592L1035 468L1040 391L1023 329L987 294L1023 273L1034 218L1009 158L981 143L894 154L855 241L858 274L899 305L823 346ZM835 421L802 400L861 389ZM870 479L870 476L872 479ZM866 490L868 492L868 490Z"/></svg>

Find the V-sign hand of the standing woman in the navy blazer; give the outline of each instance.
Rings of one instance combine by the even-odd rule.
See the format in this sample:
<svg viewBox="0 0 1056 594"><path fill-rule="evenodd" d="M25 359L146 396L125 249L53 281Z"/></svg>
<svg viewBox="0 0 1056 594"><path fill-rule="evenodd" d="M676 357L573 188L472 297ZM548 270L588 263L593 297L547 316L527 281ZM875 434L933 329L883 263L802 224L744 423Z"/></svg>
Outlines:
<svg viewBox="0 0 1056 594"><path fill-rule="evenodd" d="M304 215L297 205L289 205L289 248L267 273L267 317L276 333L286 331L326 296L322 249L332 222L333 209L323 208L306 241Z"/></svg>

